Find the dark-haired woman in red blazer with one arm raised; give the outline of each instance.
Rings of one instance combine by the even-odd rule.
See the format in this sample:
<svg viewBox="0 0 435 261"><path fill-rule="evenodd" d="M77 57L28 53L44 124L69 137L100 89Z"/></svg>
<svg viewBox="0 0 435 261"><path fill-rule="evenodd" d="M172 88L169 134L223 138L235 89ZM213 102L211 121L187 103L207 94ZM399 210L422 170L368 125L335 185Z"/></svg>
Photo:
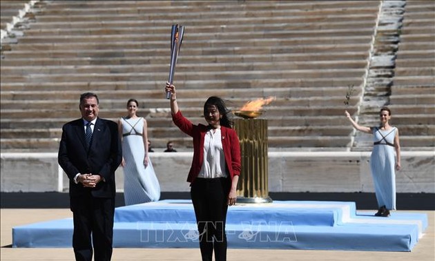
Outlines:
<svg viewBox="0 0 435 261"><path fill-rule="evenodd" d="M200 235L202 260L226 260L225 223L228 206L235 204L240 175L240 144L227 117L229 110L219 97L209 97L204 104L204 118L209 125L192 124L177 104L175 86L166 83L171 93L174 124L193 137L193 160L187 181Z"/></svg>

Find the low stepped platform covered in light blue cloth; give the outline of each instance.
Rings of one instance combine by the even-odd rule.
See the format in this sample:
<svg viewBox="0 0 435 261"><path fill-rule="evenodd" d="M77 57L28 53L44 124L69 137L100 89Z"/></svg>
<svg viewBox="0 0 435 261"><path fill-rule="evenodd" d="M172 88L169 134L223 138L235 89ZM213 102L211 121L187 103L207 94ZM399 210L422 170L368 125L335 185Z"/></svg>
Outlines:
<svg viewBox="0 0 435 261"><path fill-rule="evenodd" d="M425 213L380 218L354 202L276 201L229 207L226 235L233 249L411 251L426 228ZM72 218L16 226L12 247L72 247ZM117 208L113 247L198 248L191 201Z"/></svg>

